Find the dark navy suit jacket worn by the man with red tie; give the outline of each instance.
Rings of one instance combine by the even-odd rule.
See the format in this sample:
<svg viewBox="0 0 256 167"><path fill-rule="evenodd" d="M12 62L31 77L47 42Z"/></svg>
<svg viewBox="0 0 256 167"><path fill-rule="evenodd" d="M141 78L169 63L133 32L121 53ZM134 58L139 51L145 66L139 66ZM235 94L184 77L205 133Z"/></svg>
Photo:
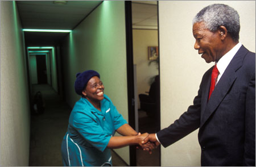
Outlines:
<svg viewBox="0 0 256 167"><path fill-rule="evenodd" d="M167 147L199 128L202 166L255 166L255 53L242 45L208 101L212 68L188 111L156 135Z"/></svg>

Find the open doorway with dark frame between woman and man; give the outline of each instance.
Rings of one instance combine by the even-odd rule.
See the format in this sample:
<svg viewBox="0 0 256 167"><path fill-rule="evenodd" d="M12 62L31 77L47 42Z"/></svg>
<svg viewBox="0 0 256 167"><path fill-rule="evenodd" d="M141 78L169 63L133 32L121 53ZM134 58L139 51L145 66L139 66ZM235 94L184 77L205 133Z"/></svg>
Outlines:
<svg viewBox="0 0 256 167"><path fill-rule="evenodd" d="M126 37L130 38L127 40L129 123L138 132L155 133L160 130L158 2L132 1L130 10L131 20L126 18L126 24L131 22L130 27L126 26ZM130 147L130 158L131 166L160 166L160 147L152 155Z"/></svg>

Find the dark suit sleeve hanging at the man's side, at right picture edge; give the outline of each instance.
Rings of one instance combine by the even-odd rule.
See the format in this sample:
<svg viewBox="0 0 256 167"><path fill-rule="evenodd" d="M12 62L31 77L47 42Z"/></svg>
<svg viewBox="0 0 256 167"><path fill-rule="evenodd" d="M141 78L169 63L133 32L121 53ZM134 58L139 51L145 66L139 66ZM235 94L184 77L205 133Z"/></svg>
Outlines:
<svg viewBox="0 0 256 167"><path fill-rule="evenodd" d="M255 64L246 93L245 111L245 152L243 155L243 165L255 166Z"/></svg>

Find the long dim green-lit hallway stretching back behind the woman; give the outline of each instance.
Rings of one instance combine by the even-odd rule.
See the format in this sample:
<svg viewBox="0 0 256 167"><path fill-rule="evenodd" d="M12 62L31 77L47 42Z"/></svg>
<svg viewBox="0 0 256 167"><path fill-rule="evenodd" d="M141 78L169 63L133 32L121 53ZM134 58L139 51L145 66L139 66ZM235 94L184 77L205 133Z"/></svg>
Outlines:
<svg viewBox="0 0 256 167"><path fill-rule="evenodd" d="M60 146L77 101L77 72L97 70L123 118L134 119L129 118L133 99L126 89L130 82L124 18L131 13L126 15L125 6L131 2L70 1L58 6L51 1L1 1L1 166L62 166ZM37 91L46 108L33 115L30 103ZM65 94L65 102L56 92ZM135 164L130 155L137 156L137 166L144 166L143 161L154 165L141 151L114 151L114 166L126 166L130 160Z"/></svg>

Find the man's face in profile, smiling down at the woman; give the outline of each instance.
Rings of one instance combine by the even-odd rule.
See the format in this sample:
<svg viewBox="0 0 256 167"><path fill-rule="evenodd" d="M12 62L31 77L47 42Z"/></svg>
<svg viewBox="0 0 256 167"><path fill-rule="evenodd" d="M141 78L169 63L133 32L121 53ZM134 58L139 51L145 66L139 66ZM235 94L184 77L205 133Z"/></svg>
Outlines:
<svg viewBox="0 0 256 167"><path fill-rule="evenodd" d="M198 50L201 57L207 62L217 62L224 55L222 39L223 32L217 30L209 31L203 22L193 25L193 36L196 39L194 48Z"/></svg>

